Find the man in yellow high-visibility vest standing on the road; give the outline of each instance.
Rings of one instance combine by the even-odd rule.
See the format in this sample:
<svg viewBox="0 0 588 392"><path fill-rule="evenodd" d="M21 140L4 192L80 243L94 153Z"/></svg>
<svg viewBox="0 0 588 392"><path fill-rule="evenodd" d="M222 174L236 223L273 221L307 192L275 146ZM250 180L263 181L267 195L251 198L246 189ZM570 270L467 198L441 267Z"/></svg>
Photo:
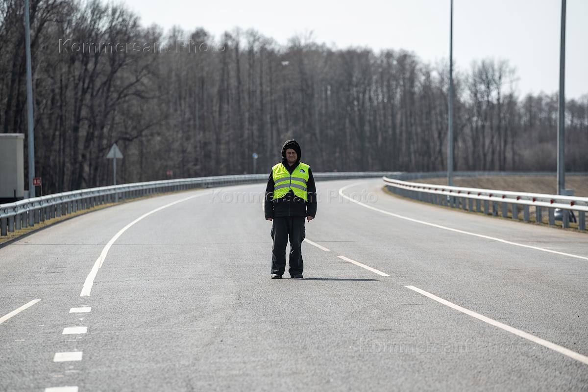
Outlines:
<svg viewBox="0 0 588 392"><path fill-rule="evenodd" d="M290 238L288 272L302 278L302 250L306 235L304 219L316 215L316 187L310 166L300 162L300 145L294 139L282 147L282 162L272 167L265 188L265 218L272 222L272 279L281 279L286 269L286 244Z"/></svg>

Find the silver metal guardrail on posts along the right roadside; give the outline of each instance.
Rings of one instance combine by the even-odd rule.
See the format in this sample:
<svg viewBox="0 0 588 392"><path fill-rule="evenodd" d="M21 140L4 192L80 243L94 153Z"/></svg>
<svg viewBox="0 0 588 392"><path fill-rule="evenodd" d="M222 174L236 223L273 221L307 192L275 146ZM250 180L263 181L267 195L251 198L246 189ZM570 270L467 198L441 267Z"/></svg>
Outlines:
<svg viewBox="0 0 588 392"><path fill-rule="evenodd" d="M553 175L553 173L539 175ZM576 175L586 174L581 173ZM410 174L396 177L409 176ZM432 175L431 177L436 176ZM576 221L576 217L572 212L576 211L578 214L578 230L586 230L588 197L450 187L449 185L403 181L386 176L382 177L382 179L386 187L395 194L432 204L445 205L446 207L461 208L466 211L483 212L486 215L492 214L497 216L500 205L500 215L506 218L509 217L510 204L512 210L510 217L514 220L519 220L519 207L522 207L522 218L525 222L530 222L530 207L534 207L534 221L536 223L543 223L543 209L545 208L547 210L547 222L549 225L555 224L556 210L560 210L562 225L564 228L568 228L570 227L570 218ZM490 208L492 208L492 211L490 211Z"/></svg>

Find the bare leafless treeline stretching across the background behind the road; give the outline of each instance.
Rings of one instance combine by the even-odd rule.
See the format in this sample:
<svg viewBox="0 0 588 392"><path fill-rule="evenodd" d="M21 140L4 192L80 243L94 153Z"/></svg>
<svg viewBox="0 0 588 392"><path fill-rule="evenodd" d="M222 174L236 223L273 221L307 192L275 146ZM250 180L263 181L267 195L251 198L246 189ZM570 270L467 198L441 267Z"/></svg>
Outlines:
<svg viewBox="0 0 588 392"><path fill-rule="evenodd" d="M22 0L0 0L0 129L26 134ZM258 172L296 138L315 171L446 168L447 64L255 31L164 33L123 6L31 0L36 173L46 191ZM507 61L457 73L456 170L555 170L557 95L520 98ZM566 107L588 171L588 95ZM26 143L25 143L26 144Z"/></svg>

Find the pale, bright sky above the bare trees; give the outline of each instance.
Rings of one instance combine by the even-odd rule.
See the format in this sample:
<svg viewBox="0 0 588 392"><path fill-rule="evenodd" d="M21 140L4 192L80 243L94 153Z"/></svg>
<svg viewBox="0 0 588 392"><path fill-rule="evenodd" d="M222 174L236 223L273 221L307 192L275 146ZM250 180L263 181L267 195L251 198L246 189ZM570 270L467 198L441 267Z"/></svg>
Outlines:
<svg viewBox="0 0 588 392"><path fill-rule="evenodd" d="M449 58L450 0L122 0L143 25L168 30L198 27L220 36L254 28L286 44L312 32L336 48L406 49L425 62ZM588 0L567 0L566 99L588 94ZM453 61L507 59L517 71L520 95L559 88L561 0L454 0Z"/></svg>

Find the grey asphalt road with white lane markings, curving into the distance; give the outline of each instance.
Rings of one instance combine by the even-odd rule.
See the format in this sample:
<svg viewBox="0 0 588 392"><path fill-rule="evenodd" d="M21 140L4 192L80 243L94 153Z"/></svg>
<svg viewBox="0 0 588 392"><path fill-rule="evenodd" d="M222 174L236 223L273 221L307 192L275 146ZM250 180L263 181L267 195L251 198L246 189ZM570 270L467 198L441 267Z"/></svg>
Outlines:
<svg viewBox="0 0 588 392"><path fill-rule="evenodd" d="M588 390L585 234L317 187L303 280L269 278L265 184L0 248L0 390Z"/></svg>

